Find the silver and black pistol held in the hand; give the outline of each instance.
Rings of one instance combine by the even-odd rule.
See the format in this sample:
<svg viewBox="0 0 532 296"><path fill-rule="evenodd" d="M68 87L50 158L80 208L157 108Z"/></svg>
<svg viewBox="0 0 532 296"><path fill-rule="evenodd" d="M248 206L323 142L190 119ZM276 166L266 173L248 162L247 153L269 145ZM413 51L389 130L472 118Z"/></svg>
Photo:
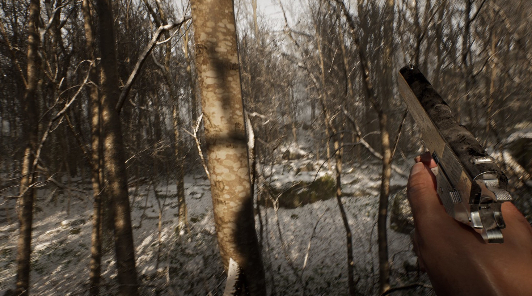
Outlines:
<svg viewBox="0 0 532 296"><path fill-rule="evenodd" d="M508 179L484 147L453 117L451 108L417 67L399 71L399 92L437 164L436 188L445 211L488 243L504 241Z"/></svg>

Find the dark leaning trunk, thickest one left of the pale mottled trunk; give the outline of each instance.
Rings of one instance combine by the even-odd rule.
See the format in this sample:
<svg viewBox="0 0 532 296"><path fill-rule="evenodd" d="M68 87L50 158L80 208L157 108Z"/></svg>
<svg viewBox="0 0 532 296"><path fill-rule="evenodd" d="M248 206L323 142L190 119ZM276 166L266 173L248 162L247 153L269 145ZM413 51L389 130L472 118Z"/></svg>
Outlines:
<svg viewBox="0 0 532 296"><path fill-rule="evenodd" d="M98 33L101 54L101 105L103 128L103 154L106 194L111 199L114 215L114 241L118 271L119 295L138 295L135 248L131 229L125 152L116 109L120 90L114 37L114 18L110 0L98 0Z"/></svg>

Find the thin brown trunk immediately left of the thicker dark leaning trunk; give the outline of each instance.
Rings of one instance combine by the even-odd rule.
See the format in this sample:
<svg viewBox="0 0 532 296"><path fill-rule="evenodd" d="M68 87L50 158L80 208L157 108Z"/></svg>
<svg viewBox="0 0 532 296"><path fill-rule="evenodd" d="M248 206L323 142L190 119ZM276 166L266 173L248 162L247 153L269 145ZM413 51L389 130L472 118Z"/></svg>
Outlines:
<svg viewBox="0 0 532 296"><path fill-rule="evenodd" d="M95 58L95 38L92 27L92 8L89 0L83 0L82 4L83 20L85 27L85 39L87 51L93 63L90 71L91 81L97 81L98 74ZM102 146L101 146L101 104L98 94L98 87L94 84L89 86L89 106L91 111L91 180L93 200L92 214L92 235L91 235L91 260L89 274L90 295L100 294L100 275L102 264Z"/></svg>

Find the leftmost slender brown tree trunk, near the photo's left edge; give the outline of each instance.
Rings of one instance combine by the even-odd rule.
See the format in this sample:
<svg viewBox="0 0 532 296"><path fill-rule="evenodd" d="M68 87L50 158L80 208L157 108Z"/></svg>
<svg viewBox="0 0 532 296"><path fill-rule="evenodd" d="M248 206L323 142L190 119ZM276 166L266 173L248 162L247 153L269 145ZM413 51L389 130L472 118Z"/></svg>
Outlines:
<svg viewBox="0 0 532 296"><path fill-rule="evenodd" d="M33 171L34 153L38 146L38 88L39 88L39 0L31 0L28 22L28 65L27 86L22 102L25 118L23 119L26 148L22 160L22 179L20 181L20 196L18 199L18 216L20 234L17 249L17 283L16 295L29 295L30 283L30 256L31 256L31 229L33 223L33 201L35 172Z"/></svg>

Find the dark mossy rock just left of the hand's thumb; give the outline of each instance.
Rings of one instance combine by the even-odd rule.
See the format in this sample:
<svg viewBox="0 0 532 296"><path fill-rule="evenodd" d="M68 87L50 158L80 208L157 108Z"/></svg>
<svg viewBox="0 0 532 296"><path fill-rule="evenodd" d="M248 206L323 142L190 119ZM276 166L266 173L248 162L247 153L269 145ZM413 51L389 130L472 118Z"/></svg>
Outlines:
<svg viewBox="0 0 532 296"><path fill-rule="evenodd" d="M414 230L414 217L406 196L406 187L392 196L392 209L390 211L390 228L404 234Z"/></svg>

